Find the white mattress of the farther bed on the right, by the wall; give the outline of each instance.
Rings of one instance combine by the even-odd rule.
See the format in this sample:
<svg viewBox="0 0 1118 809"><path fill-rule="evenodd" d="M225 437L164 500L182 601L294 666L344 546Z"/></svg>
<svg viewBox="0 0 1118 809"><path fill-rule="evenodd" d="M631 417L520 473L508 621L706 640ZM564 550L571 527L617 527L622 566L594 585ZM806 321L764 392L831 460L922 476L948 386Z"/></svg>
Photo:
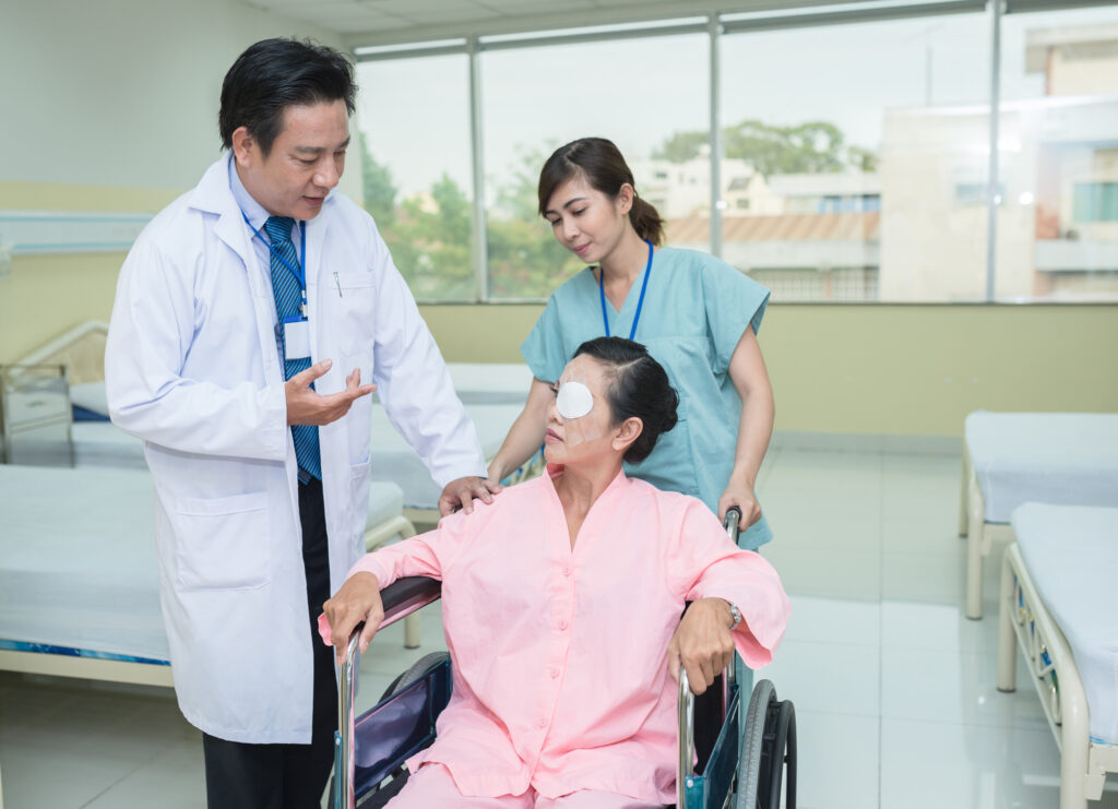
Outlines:
<svg viewBox="0 0 1118 809"><path fill-rule="evenodd" d="M988 523L1029 502L1118 507L1118 413L979 410L966 441Z"/></svg>

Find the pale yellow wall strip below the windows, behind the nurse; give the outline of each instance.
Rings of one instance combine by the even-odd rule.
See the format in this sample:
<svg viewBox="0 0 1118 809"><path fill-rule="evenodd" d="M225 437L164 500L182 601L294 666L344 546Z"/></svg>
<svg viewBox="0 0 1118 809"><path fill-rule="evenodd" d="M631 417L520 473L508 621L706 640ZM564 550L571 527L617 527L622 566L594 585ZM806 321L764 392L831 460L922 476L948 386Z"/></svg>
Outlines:
<svg viewBox="0 0 1118 809"><path fill-rule="evenodd" d="M424 306L451 361L517 362L541 306ZM1118 305L769 306L778 430L961 435L976 409L1118 411Z"/></svg>

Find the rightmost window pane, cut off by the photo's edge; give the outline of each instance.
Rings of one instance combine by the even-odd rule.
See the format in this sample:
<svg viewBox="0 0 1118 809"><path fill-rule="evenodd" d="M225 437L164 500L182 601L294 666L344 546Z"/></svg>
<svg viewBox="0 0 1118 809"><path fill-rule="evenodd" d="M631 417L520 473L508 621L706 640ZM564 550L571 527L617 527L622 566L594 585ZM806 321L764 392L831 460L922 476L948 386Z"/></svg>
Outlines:
<svg viewBox="0 0 1118 809"><path fill-rule="evenodd" d="M997 296L1118 299L1118 7L1002 22Z"/></svg>

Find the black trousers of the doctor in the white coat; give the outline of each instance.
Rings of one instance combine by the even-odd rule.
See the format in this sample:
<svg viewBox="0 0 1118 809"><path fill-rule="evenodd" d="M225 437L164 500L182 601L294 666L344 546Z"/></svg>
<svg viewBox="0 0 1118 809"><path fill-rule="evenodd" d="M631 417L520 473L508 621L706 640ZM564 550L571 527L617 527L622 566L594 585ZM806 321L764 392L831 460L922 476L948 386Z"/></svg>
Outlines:
<svg viewBox="0 0 1118 809"><path fill-rule="evenodd" d="M209 809L319 809L334 761L338 684L332 647L318 617L330 598L330 555L322 483L299 484L309 629L314 648L314 720L310 744L245 744L202 734ZM295 697L292 697L295 698Z"/></svg>

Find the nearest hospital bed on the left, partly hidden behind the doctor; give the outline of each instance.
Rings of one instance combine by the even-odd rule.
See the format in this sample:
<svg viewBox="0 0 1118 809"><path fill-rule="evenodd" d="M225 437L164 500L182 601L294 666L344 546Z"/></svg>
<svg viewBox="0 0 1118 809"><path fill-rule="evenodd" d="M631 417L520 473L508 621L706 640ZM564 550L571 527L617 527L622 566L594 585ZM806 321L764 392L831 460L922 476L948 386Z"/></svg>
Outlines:
<svg viewBox="0 0 1118 809"><path fill-rule="evenodd" d="M171 685L153 497L146 472L0 465L0 669ZM415 533L401 510L372 486L367 548Z"/></svg>

